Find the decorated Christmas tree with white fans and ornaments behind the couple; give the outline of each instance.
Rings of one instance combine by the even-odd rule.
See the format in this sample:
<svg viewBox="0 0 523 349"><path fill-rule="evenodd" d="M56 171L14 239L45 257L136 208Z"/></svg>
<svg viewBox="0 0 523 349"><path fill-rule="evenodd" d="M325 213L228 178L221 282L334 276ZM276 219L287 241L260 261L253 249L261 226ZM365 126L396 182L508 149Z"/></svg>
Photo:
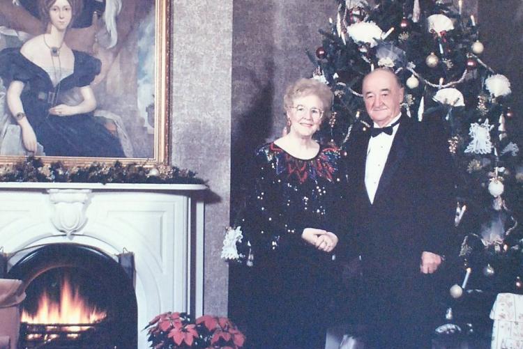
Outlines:
<svg viewBox="0 0 523 349"><path fill-rule="evenodd" d="M372 125L361 83L379 67L393 69L406 86L408 116L423 122L428 114L441 115L455 160L448 176L457 185L456 254L447 256L444 272L456 285L447 293L446 314L435 316L448 321L441 333L473 332L482 317L490 331L495 295L523 293L523 164L510 82L482 61L478 25L462 15L461 0L337 3L337 17L320 31L321 47L308 53L316 66L313 77L335 95L321 137L342 147L353 127Z"/></svg>

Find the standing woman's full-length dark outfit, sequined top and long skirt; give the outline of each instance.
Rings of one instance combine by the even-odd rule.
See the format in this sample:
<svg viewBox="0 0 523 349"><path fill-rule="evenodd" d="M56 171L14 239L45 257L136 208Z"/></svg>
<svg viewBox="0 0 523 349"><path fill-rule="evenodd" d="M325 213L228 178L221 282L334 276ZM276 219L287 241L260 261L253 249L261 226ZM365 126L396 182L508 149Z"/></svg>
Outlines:
<svg viewBox="0 0 523 349"><path fill-rule="evenodd" d="M338 148L310 160L274 143L257 150L254 183L243 212L239 251L252 261L249 348L317 349L325 343L335 297L333 253L301 238L304 228L334 231L342 183ZM250 263L248 261L248 263Z"/></svg>

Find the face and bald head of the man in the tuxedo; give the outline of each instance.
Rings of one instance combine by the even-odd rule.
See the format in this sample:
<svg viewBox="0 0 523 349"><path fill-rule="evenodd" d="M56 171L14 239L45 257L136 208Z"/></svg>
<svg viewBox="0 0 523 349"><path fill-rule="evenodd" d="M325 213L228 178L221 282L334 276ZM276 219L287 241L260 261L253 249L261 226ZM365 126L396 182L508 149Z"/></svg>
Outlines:
<svg viewBox="0 0 523 349"><path fill-rule="evenodd" d="M403 88L393 72L374 70L363 80L363 100L372 121L384 127L400 114Z"/></svg>

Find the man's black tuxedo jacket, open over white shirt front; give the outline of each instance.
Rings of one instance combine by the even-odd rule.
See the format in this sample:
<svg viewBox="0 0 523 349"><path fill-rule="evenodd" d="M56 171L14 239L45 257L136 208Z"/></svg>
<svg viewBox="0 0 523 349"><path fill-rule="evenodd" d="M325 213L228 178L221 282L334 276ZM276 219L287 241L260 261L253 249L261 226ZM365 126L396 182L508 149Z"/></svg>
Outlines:
<svg viewBox="0 0 523 349"><path fill-rule="evenodd" d="M347 254L361 255L367 277L402 279L420 274L423 251L445 255L454 247L452 159L441 124L402 116L379 180L374 203L365 189L368 127L353 127L347 156Z"/></svg>

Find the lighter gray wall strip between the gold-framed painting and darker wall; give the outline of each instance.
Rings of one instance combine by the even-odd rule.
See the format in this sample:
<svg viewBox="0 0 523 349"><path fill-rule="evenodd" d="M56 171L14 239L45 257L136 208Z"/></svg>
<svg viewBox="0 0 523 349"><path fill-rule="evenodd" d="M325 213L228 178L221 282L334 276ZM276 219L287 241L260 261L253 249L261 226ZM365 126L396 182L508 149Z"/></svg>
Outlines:
<svg viewBox="0 0 523 349"><path fill-rule="evenodd" d="M227 314L232 0L172 0L172 160L209 180L205 313ZM176 309L173 309L176 311Z"/></svg>

